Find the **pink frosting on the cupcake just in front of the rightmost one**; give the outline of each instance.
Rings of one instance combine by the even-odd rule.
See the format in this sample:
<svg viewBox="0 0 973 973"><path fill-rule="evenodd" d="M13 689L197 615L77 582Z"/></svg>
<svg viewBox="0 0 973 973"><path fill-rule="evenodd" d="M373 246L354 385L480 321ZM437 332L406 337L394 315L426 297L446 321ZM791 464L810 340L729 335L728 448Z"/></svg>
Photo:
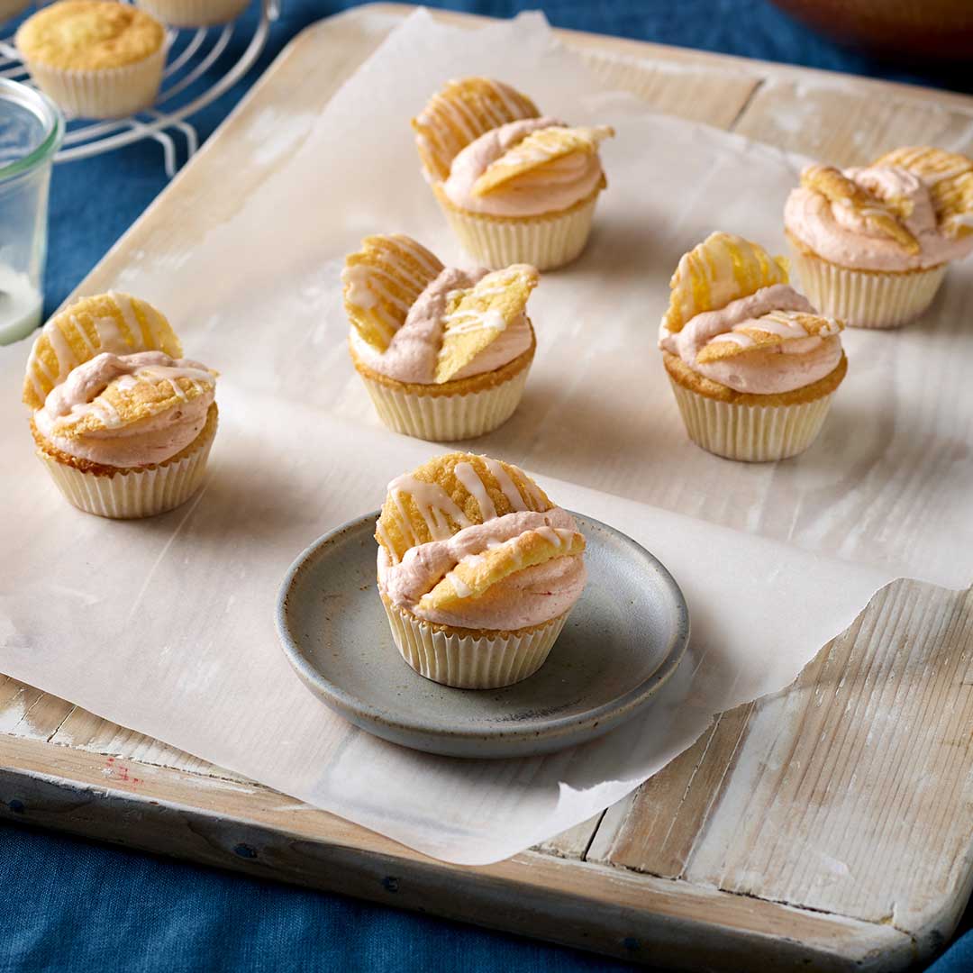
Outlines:
<svg viewBox="0 0 973 973"><path fill-rule="evenodd" d="M709 342L775 310L816 313L808 299L789 284L773 284L719 310L697 314L683 325L681 331L670 332L664 326L660 330L659 346L678 355L698 375L734 391L754 395L775 395L804 388L838 367L842 360L842 342L837 334L808 335L753 354L743 353L719 361L701 363L697 360Z"/></svg>

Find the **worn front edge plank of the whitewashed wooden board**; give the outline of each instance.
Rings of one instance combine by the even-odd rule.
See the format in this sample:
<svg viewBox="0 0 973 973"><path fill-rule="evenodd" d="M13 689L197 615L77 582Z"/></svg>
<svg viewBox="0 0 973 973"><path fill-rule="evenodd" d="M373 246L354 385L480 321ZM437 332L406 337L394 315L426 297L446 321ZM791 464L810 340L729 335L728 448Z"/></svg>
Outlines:
<svg viewBox="0 0 973 973"><path fill-rule="evenodd" d="M109 773L106 773L108 771ZM0 816L672 969L904 969L890 926L524 852L466 868L257 784L0 737Z"/></svg>

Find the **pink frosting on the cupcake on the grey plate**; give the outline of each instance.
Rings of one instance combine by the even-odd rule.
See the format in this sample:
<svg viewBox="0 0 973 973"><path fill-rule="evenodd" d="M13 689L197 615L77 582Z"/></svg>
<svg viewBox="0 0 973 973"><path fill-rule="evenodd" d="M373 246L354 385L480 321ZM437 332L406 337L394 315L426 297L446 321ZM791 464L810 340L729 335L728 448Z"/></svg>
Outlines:
<svg viewBox="0 0 973 973"><path fill-rule="evenodd" d="M513 541L527 530L577 530L574 518L560 507L543 513L518 511L457 531L445 540L410 548L392 564L378 548L378 588L393 605L417 618L464 629L512 631L543 625L567 611L581 596L587 573L584 559L570 555L517 571L493 585L485 595L464 599L461 609L433 610L419 606L429 592L461 560Z"/></svg>

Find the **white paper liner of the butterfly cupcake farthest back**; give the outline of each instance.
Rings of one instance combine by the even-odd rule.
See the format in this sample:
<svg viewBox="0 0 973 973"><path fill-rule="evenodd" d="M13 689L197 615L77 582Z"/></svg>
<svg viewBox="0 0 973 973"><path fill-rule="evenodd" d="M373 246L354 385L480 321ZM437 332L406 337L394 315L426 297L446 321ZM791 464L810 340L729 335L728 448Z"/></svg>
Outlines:
<svg viewBox="0 0 973 973"><path fill-rule="evenodd" d="M477 263L490 270L530 264L555 270L581 256L592 230L598 194L561 214L523 220L498 220L452 206L437 192L452 232Z"/></svg>

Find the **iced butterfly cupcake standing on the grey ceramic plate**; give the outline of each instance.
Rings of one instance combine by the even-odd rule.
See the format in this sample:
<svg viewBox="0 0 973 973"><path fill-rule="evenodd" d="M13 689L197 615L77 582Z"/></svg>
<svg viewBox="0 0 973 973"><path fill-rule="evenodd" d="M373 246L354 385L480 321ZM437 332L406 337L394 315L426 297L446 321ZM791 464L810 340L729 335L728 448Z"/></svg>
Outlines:
<svg viewBox="0 0 973 973"><path fill-rule="evenodd" d="M378 592L403 659L493 689L543 666L585 587L585 538L523 470L450 452L398 477L376 527Z"/></svg>

